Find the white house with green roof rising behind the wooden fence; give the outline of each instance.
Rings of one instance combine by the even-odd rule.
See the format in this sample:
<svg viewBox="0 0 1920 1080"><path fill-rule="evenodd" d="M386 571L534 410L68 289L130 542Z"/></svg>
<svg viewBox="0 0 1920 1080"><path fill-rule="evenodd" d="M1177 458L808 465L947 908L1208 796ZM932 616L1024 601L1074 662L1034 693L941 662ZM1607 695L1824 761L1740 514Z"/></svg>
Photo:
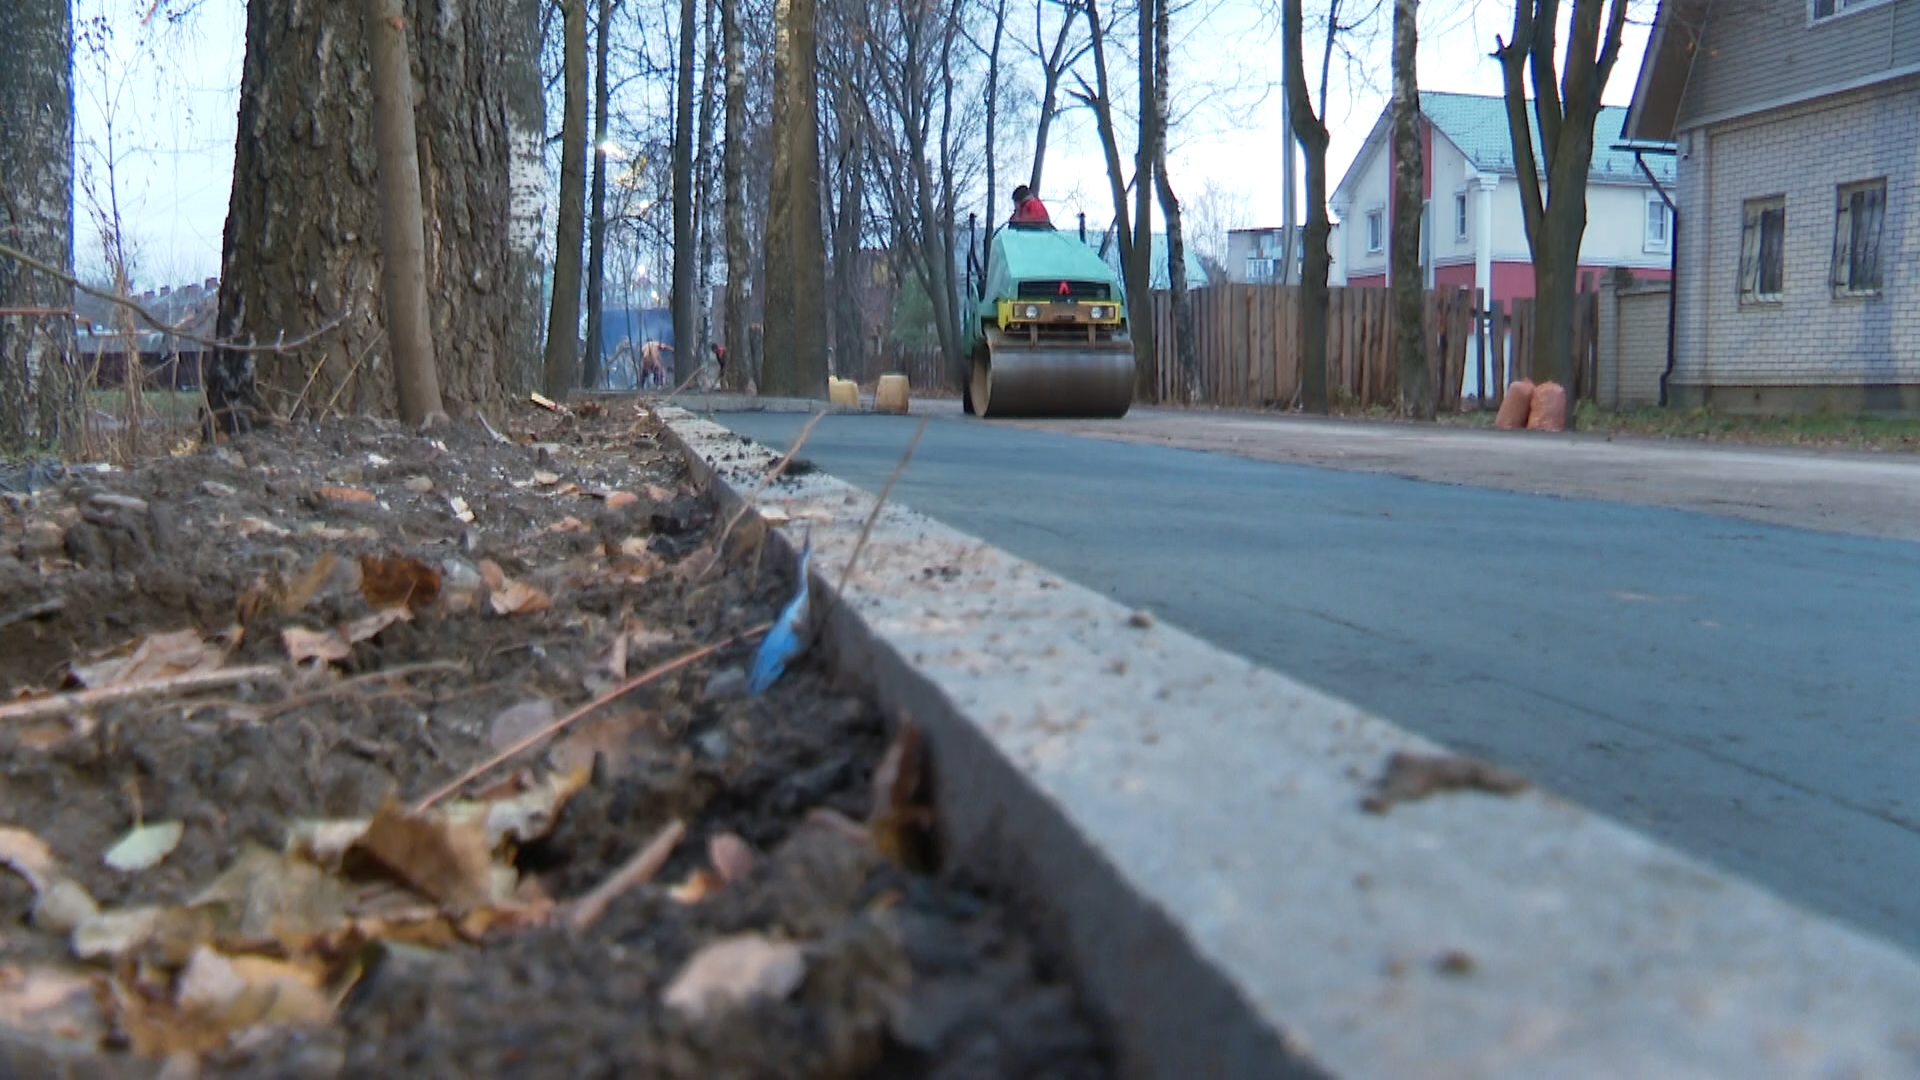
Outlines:
<svg viewBox="0 0 1920 1080"><path fill-rule="evenodd" d="M1505 100L1423 92L1421 119L1427 160L1421 261L1427 284L1480 288L1488 300L1500 302L1530 298L1534 267L1521 217ZM1594 286L1611 267L1626 267L1638 279L1670 277L1672 217L1634 154L1615 150L1624 142L1624 121L1626 110L1603 108L1594 125L1586 236L1580 242L1580 273ZM1645 167L1672 192L1672 156L1647 154ZM1329 200L1340 221L1332 242L1338 246L1334 265L1346 271L1344 284L1388 282L1392 175L1392 117L1382 111Z"/></svg>

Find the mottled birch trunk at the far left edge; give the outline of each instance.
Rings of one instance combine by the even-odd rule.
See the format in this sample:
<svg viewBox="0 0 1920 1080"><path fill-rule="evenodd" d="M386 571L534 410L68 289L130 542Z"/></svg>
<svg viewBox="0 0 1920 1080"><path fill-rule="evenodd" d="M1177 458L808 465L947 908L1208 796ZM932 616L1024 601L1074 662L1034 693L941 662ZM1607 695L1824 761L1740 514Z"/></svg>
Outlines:
<svg viewBox="0 0 1920 1080"><path fill-rule="evenodd" d="M71 273L73 12L67 0L27 0L8 12L0 31L0 242ZM0 307L65 309L71 296L65 284L0 256ZM77 450L83 390L71 319L0 315L0 455L36 444Z"/></svg>

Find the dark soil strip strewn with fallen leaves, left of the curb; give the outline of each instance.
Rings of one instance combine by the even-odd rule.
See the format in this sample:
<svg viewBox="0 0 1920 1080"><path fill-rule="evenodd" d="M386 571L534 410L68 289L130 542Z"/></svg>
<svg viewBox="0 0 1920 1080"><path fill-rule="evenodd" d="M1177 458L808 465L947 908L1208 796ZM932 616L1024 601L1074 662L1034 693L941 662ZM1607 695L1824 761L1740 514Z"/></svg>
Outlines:
<svg viewBox="0 0 1920 1080"><path fill-rule="evenodd" d="M756 519L708 569L632 404L497 427L0 503L0 1074L1108 1076L818 651L751 696L728 646L407 809L795 584Z"/></svg>

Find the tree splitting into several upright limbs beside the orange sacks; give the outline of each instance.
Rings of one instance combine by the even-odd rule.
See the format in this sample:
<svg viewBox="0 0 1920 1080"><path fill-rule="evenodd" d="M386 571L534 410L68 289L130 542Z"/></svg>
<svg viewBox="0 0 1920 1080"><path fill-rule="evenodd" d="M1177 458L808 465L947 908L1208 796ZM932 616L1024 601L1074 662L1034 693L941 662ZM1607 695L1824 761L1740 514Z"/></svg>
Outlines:
<svg viewBox="0 0 1920 1080"><path fill-rule="evenodd" d="M1605 10L1605 35L1601 12ZM1507 133L1521 186L1521 219L1534 256L1534 377L1569 382L1572 375L1572 304L1586 236L1586 179L1594 167L1594 121L1599 96L1620 58L1626 0L1572 0L1565 71L1555 79L1559 0L1517 0L1513 38L1500 40L1507 90ZM1532 75L1540 156L1526 117L1526 79ZM1542 190L1542 186L1546 190ZM1571 400L1571 396L1569 396ZM1572 417L1567 417L1572 419Z"/></svg>

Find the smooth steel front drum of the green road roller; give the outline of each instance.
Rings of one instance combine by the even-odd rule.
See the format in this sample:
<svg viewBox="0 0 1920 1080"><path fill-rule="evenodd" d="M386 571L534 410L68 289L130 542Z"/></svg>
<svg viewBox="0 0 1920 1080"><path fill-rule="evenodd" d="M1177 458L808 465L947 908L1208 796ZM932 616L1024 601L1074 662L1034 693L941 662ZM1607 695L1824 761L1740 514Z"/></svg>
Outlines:
<svg viewBox="0 0 1920 1080"><path fill-rule="evenodd" d="M1123 417L1133 405L1133 348L995 344L973 361L973 411L1004 417Z"/></svg>

